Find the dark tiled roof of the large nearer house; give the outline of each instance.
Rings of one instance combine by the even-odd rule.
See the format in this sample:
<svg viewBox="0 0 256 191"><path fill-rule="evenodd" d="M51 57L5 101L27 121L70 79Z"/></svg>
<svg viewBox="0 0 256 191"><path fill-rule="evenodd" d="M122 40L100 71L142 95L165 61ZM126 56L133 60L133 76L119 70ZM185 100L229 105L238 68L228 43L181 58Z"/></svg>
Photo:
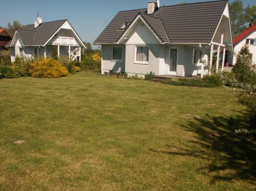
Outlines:
<svg viewBox="0 0 256 191"><path fill-rule="evenodd" d="M146 8L120 11L94 44L116 43L125 32L119 30L121 25L124 22L132 23L138 14L163 42L210 43L227 3L227 0L223 0L164 6L154 14L146 14Z"/></svg>

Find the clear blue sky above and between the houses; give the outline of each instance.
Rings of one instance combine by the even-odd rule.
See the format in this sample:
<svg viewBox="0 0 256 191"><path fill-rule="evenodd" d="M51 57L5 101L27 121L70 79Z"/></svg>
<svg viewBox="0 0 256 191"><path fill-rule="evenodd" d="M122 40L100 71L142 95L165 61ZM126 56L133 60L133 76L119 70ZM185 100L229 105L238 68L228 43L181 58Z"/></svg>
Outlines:
<svg viewBox="0 0 256 191"><path fill-rule="evenodd" d="M30 25L39 13L43 22L68 19L83 42L92 44L118 11L146 8L148 1L152 0L0 0L0 26L14 20ZM209 0L160 0L160 6L200 1ZM256 5L256 1L243 0L243 5Z"/></svg>

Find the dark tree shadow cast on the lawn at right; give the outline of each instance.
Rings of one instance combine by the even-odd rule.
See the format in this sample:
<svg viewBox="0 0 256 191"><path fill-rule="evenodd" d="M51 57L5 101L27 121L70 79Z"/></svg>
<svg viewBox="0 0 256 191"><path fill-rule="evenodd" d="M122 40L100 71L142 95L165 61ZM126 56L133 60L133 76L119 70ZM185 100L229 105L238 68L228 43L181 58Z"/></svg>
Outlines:
<svg viewBox="0 0 256 191"><path fill-rule="evenodd" d="M185 131L195 133L196 139L183 145L182 148L169 145L170 151L150 150L208 160L210 164L207 170L214 174L211 180L213 184L216 180L226 181L235 178L255 181L255 134L235 134L237 129L253 128L245 121L244 116L194 117L183 128ZM198 169L198 171L202 170Z"/></svg>

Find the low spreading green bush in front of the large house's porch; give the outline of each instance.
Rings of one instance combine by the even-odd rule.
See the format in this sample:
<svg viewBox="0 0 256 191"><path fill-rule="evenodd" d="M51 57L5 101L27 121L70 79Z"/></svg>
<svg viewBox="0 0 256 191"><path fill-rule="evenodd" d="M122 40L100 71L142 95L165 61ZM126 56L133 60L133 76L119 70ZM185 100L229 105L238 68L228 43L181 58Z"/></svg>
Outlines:
<svg viewBox="0 0 256 191"><path fill-rule="evenodd" d="M205 82L203 80L164 80L162 81L163 84L169 84L173 86L193 86L193 87L216 87L212 83Z"/></svg>

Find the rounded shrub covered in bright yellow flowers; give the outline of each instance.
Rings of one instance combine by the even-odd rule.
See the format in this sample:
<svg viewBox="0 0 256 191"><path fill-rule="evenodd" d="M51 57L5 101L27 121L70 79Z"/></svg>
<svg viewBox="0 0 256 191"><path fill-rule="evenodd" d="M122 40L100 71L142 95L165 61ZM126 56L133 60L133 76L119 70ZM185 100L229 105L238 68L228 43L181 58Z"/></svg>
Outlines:
<svg viewBox="0 0 256 191"><path fill-rule="evenodd" d="M60 78L68 76L68 69L53 59L36 60L30 69L31 77L36 78Z"/></svg>

